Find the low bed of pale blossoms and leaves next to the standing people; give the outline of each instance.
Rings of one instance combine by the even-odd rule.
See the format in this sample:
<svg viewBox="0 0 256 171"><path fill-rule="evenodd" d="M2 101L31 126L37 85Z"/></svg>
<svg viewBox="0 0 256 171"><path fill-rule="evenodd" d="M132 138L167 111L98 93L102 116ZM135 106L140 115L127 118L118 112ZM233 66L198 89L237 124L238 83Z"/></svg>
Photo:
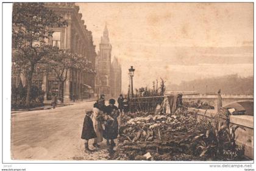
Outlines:
<svg viewBox="0 0 256 171"><path fill-rule="evenodd" d="M179 108L174 115L154 113L128 113L119 129L119 144L112 159L177 160L174 156L190 156L189 137L195 127L196 117Z"/></svg>

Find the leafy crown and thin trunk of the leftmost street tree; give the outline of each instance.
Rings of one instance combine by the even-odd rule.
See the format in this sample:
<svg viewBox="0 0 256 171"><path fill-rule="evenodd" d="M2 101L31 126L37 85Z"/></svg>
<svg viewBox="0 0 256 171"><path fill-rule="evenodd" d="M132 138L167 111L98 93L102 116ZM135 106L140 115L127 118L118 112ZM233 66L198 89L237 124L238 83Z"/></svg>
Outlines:
<svg viewBox="0 0 256 171"><path fill-rule="evenodd" d="M13 68L24 72L27 78L26 106L30 103L30 88L35 67L44 63L52 49L46 40L52 36L52 27L65 27L67 21L56 15L43 3L13 4Z"/></svg>

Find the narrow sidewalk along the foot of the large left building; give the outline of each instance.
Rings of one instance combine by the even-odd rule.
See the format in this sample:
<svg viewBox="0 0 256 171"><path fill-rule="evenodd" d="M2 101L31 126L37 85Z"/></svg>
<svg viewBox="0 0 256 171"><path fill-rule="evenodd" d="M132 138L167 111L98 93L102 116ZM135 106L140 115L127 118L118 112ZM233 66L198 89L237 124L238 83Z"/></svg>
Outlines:
<svg viewBox="0 0 256 171"><path fill-rule="evenodd" d="M97 98L93 97L93 98L90 98L90 99L76 100L76 102L66 101L64 103L60 103L58 101L57 106L55 106L55 108L59 108L59 107L62 107L62 106L68 106L68 105L74 105L75 103L93 102L93 101L96 101L96 100L97 100ZM35 107L35 108L29 108L29 109L17 109L17 110L12 109L11 114L13 114L13 113L22 113L22 112L26 112L26 111L50 110L50 109L52 109L51 100L46 100L46 101L44 101L44 106L38 106L38 107Z"/></svg>

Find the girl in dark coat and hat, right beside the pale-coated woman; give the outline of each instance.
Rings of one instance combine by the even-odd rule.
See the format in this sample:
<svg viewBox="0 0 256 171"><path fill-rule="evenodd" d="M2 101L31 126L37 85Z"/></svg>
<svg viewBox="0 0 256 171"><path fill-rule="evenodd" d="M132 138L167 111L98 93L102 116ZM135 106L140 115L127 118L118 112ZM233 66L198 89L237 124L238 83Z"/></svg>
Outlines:
<svg viewBox="0 0 256 171"><path fill-rule="evenodd" d="M114 139L118 137L118 120L119 116L118 108L114 105L115 99L109 100L109 105L106 107L106 113L108 116L112 117L114 120L112 122L107 122L105 124L105 130L103 131L103 137L107 139L107 145L115 146ZM111 141L109 143L109 140Z"/></svg>

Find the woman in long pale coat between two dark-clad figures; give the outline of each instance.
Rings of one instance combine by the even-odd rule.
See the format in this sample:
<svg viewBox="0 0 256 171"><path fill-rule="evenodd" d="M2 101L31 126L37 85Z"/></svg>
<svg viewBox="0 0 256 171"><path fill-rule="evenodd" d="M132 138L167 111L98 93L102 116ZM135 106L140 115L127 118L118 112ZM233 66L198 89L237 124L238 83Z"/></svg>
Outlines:
<svg viewBox="0 0 256 171"><path fill-rule="evenodd" d="M103 128L102 128L102 114L103 111L100 109L102 108L102 100L98 100L97 103L93 105L93 115L91 116L91 120L93 120L93 127L96 133L97 138L94 138L93 146L99 147L98 142L103 141Z"/></svg>

